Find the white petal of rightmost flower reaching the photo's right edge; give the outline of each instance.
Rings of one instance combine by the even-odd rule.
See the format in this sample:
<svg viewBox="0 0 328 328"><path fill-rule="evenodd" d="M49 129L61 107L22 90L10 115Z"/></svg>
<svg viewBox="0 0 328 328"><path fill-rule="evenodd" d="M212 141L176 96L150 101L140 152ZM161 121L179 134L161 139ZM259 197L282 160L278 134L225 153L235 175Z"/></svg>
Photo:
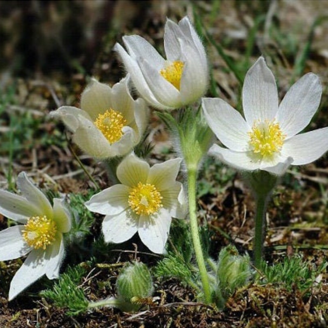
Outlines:
<svg viewBox="0 0 328 328"><path fill-rule="evenodd" d="M328 127L297 134L284 142L281 154L293 157L292 165L317 160L328 150Z"/></svg>

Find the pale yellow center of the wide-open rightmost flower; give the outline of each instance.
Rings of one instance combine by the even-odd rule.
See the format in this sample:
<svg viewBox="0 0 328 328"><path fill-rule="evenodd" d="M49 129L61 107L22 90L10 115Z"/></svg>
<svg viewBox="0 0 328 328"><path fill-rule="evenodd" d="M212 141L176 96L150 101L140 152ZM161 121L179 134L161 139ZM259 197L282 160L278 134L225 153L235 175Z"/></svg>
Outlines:
<svg viewBox="0 0 328 328"><path fill-rule="evenodd" d="M251 132L249 143L254 153L262 156L271 156L280 151L286 135L280 130L279 123L265 120L264 122L255 122Z"/></svg>

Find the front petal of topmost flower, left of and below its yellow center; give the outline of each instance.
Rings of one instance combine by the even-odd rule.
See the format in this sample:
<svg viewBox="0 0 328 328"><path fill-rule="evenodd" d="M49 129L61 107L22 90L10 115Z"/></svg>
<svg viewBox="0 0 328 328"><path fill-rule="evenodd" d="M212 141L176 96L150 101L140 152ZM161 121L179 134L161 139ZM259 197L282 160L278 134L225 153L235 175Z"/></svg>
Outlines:
<svg viewBox="0 0 328 328"><path fill-rule="evenodd" d="M181 107L180 92L168 82L146 59L137 58L138 65L143 73L154 97L161 104L161 109L174 109Z"/></svg>

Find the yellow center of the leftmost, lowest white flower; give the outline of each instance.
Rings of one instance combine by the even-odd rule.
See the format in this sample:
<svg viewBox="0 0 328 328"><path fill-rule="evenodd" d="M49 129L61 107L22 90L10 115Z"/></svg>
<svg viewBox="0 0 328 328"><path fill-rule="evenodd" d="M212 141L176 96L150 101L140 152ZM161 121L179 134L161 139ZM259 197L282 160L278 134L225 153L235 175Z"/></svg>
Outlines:
<svg viewBox="0 0 328 328"><path fill-rule="evenodd" d="M47 248L55 240L56 223L46 215L32 216L25 224L23 239L34 249Z"/></svg>

